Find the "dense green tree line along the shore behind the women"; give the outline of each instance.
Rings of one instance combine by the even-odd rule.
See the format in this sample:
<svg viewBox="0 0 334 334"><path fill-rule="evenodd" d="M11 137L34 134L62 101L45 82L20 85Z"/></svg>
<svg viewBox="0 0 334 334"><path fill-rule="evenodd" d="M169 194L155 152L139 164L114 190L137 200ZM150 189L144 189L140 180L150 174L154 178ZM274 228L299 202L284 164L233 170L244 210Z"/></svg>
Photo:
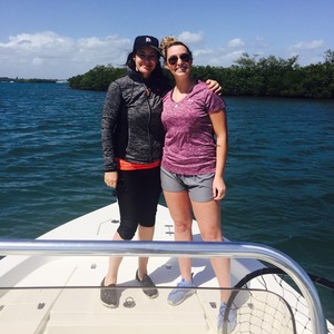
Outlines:
<svg viewBox="0 0 334 334"><path fill-rule="evenodd" d="M333 99L334 51L327 50L324 61L315 65L302 67L297 60L298 56L285 60L275 56L259 58L244 53L228 68L194 66L193 73L196 79L210 78L220 82L223 96ZM73 89L106 91L111 81L125 73L125 68L97 66L68 81Z"/></svg>

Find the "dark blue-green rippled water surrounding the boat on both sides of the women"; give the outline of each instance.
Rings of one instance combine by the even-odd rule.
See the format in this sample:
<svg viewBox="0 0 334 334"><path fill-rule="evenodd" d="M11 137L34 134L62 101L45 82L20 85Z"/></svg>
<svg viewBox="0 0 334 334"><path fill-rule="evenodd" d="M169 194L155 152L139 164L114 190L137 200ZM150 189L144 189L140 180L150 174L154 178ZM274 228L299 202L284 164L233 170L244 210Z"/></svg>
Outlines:
<svg viewBox="0 0 334 334"><path fill-rule="evenodd" d="M35 238L115 200L102 179L104 98L0 82L0 237ZM225 234L278 248L334 281L334 101L226 102ZM333 293L321 296L334 318Z"/></svg>

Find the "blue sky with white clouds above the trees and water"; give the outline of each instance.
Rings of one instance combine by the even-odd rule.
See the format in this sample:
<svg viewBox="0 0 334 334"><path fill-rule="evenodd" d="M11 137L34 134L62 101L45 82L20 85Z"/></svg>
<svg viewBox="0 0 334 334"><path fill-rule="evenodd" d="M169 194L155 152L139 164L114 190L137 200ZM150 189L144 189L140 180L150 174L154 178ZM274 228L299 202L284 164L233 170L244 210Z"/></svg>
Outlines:
<svg viewBox="0 0 334 334"><path fill-rule="evenodd" d="M0 77L121 66L138 35L176 36L195 65L228 67L248 52L305 66L334 50L334 0L0 0Z"/></svg>

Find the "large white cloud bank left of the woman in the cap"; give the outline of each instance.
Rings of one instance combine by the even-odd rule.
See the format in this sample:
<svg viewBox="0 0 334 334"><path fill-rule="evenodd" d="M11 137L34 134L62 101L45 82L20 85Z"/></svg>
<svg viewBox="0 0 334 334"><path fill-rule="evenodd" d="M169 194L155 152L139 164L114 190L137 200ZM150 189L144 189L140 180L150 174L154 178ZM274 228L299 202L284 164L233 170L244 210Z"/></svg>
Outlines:
<svg viewBox="0 0 334 334"><path fill-rule="evenodd" d="M65 79L97 65L120 66L130 47L117 36L76 40L52 31L20 33L0 42L0 77Z"/></svg>

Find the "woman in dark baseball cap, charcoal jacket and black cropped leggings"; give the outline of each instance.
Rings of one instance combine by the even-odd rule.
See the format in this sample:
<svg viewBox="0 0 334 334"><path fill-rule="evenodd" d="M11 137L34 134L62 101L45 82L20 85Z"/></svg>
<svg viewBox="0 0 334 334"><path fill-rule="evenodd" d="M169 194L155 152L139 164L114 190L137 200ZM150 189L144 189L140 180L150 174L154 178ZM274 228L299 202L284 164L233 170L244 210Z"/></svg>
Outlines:
<svg viewBox="0 0 334 334"><path fill-rule="evenodd" d="M120 213L114 240L130 240L137 229L140 240L151 240L154 236L165 135L161 97L171 89L159 58L158 40L138 36L127 58L128 73L111 82L107 91L101 126L105 183L116 189ZM220 90L217 81L208 81L212 89ZM107 307L119 304L117 289L112 287L121 261L121 257L109 258L108 273L101 282L100 298ZM155 298L158 291L147 274L147 264L148 258L140 257L134 276L144 293Z"/></svg>

